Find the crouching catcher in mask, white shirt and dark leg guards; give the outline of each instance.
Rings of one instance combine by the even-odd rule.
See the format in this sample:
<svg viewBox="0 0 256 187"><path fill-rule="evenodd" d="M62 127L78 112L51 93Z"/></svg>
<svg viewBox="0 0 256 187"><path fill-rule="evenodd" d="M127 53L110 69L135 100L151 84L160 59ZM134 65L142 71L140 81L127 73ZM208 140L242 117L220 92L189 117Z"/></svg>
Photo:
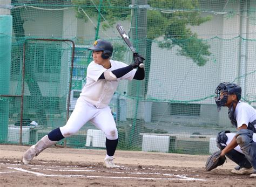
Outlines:
<svg viewBox="0 0 256 187"><path fill-rule="evenodd" d="M215 89L215 102L218 112L221 107L228 107L228 117L237 133L221 131L217 135L220 151L211 155L206 162L206 171L217 168L225 162L225 156L238 166L233 174L251 174L256 177L256 110L245 102L240 102L240 86L221 82Z"/></svg>

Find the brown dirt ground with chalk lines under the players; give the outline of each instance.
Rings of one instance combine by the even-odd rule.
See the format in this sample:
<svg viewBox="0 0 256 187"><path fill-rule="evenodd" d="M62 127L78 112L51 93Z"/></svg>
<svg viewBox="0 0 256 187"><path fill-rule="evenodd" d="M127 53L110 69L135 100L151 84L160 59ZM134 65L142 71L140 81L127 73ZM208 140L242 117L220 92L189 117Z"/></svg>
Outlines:
<svg viewBox="0 0 256 187"><path fill-rule="evenodd" d="M255 186L255 178L231 174L230 160L205 172L206 155L117 150L123 168L106 169L105 150L53 147L24 165L26 149L0 145L1 186Z"/></svg>

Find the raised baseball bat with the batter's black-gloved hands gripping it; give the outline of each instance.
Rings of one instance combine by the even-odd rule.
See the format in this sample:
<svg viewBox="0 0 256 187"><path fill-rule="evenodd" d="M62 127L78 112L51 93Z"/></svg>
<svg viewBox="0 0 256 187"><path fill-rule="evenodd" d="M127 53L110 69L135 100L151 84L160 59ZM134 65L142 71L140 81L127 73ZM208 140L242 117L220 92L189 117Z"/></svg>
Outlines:
<svg viewBox="0 0 256 187"><path fill-rule="evenodd" d="M143 64L143 60L145 60L142 56L140 56L136 50L134 49L134 47L132 46L132 43L130 41L130 38L129 36L126 34L125 30L124 30L124 27L120 24L117 24L117 30L119 32L119 34L121 35L121 37L123 38L123 40L125 41L125 43L127 44L127 46L130 48L130 50L132 51L133 53L133 60L134 60L134 64L133 67L136 68L136 67L140 67L140 68L143 68L144 67L144 64Z"/></svg>

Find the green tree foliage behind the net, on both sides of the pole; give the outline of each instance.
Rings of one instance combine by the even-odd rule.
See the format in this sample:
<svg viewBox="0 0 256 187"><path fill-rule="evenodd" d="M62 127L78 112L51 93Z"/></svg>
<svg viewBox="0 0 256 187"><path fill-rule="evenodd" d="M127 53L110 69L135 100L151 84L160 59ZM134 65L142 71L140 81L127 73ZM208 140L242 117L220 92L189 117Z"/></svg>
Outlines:
<svg viewBox="0 0 256 187"><path fill-rule="evenodd" d="M130 17L131 1L118 0L74 0L73 3L86 9L87 15L97 16L100 6L100 13L104 19L104 28L112 26L118 20ZM210 16L202 17L199 10L198 0L148 0L150 9L147 10L147 39L158 39L164 37L159 43L160 47L171 49L179 46L180 55L193 59L198 66L207 62L211 55L210 45L199 39L197 33L193 33L191 26L198 26L211 20ZM117 11L117 8L121 9ZM77 8L77 17L87 22L87 16ZM105 23L105 24L104 24Z"/></svg>

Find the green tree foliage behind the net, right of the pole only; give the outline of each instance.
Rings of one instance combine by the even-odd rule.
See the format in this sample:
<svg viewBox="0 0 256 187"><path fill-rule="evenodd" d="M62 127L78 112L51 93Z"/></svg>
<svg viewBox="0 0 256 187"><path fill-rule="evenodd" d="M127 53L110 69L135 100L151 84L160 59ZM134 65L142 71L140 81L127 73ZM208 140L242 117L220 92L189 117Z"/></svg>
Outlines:
<svg viewBox="0 0 256 187"><path fill-rule="evenodd" d="M190 27L197 26L211 20L210 16L201 17L198 1L153 1L149 0L152 7L165 7L166 10L149 11L147 15L147 36L149 39L164 35L164 41L159 46L171 48L180 46L181 55L190 57L198 66L203 66L210 56L210 45L198 39ZM168 12L168 13L166 13ZM157 24L157 25L156 25Z"/></svg>

